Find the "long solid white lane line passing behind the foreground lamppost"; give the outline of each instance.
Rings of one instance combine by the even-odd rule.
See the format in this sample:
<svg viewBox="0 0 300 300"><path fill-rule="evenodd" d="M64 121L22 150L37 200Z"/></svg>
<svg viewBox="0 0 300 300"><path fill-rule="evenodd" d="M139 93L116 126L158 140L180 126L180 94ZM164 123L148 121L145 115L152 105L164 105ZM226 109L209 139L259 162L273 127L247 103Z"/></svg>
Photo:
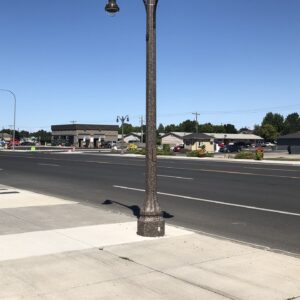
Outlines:
<svg viewBox="0 0 300 300"><path fill-rule="evenodd" d="M145 190L143 190L143 189L136 189L136 188L126 187L126 186L114 185L113 187L119 188L119 189L125 189L125 190L145 192ZM201 202L208 202L208 203L214 203L214 204L220 204L220 205L226 205L226 206L241 207L241 208L247 208L247 209L253 209L253 210L260 210L260 211L267 211L267 212L272 212L272 213L277 213L277 214L283 214L283 215L290 215L290 216L300 217L300 214L289 212L289 211L268 209L268 208L263 208L263 207L256 207L256 206L249 206L249 205L242 205L242 204L235 204L235 203L222 202L222 201L216 201L216 200L208 200L208 199L202 199L202 198L196 198L196 197L190 197L190 196L184 196L184 195L175 195L175 194L170 194L170 193L157 192L157 194L164 195L164 196L169 196L169 197L175 197L175 198L183 198L183 199L189 199L189 200L195 200L195 201L201 201Z"/></svg>

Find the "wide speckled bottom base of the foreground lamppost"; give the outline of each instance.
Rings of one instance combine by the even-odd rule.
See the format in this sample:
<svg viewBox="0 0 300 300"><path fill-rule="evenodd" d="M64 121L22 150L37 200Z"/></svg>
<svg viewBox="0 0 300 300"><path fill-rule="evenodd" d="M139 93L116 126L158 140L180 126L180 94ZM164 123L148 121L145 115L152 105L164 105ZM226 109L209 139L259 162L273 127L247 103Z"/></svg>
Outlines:
<svg viewBox="0 0 300 300"><path fill-rule="evenodd" d="M147 237L165 235L165 220L161 214L143 214L138 219L137 234Z"/></svg>

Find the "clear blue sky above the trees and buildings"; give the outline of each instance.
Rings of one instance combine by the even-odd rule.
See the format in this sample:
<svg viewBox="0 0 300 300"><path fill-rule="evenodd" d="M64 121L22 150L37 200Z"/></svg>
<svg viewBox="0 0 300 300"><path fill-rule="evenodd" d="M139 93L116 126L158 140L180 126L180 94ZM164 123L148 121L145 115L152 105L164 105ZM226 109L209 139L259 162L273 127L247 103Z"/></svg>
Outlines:
<svg viewBox="0 0 300 300"><path fill-rule="evenodd" d="M142 0L1 0L0 89L16 129L145 119ZM157 125L194 120L253 128L300 114L299 0L159 0ZM0 128L13 98L0 91Z"/></svg>

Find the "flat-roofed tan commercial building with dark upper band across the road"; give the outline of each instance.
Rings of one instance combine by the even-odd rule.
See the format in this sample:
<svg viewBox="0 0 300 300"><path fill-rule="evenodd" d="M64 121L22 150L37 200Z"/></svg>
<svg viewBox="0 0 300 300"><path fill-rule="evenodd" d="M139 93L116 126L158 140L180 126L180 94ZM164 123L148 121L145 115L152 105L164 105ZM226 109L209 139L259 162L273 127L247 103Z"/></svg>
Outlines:
<svg viewBox="0 0 300 300"><path fill-rule="evenodd" d="M109 142L117 142L118 129L117 125L52 125L52 144L78 148L101 148Z"/></svg>

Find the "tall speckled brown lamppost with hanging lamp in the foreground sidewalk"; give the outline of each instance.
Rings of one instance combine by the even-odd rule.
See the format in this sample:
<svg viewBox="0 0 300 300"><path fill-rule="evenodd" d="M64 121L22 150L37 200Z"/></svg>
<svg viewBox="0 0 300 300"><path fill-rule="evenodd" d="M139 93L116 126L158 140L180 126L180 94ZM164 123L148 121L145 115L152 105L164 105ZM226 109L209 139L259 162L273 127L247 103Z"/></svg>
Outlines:
<svg viewBox="0 0 300 300"><path fill-rule="evenodd" d="M147 14L147 63L146 63L146 195L137 225L137 234L163 236L165 221L157 200L156 158L156 8L158 0L143 0ZM116 0L108 0L105 10L117 13Z"/></svg>

